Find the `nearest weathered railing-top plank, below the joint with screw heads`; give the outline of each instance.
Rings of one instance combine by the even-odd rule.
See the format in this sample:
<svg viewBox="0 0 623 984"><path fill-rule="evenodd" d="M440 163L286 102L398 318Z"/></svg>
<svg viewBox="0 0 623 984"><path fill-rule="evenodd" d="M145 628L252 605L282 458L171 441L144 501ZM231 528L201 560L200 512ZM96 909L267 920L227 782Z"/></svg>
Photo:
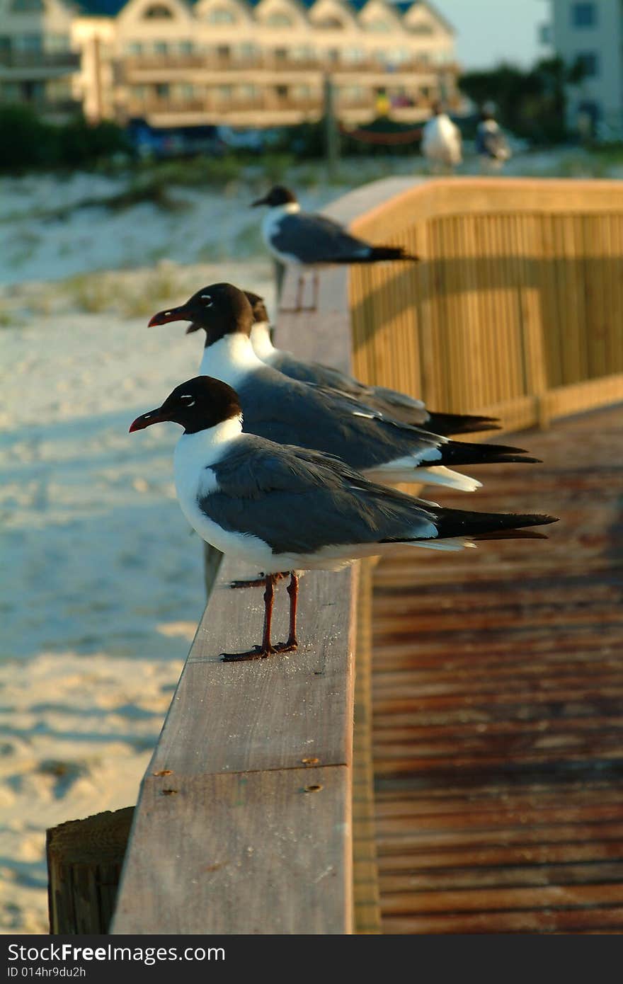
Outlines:
<svg viewBox="0 0 623 984"><path fill-rule="evenodd" d="M146 779L112 933L349 933L349 776Z"/></svg>

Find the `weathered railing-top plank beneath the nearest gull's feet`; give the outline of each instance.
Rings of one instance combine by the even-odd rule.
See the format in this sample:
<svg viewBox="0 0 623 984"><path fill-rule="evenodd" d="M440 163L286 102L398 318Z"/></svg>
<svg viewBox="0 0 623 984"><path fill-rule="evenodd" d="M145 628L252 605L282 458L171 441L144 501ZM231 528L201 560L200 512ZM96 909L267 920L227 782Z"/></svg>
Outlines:
<svg viewBox="0 0 623 984"><path fill-rule="evenodd" d="M223 663L222 651L260 640L261 588L232 590L223 562L171 703L150 772L184 775L295 769L305 758L340 766L351 757L356 571L307 574L299 587L298 651ZM287 635L287 594L277 587L275 634Z"/></svg>

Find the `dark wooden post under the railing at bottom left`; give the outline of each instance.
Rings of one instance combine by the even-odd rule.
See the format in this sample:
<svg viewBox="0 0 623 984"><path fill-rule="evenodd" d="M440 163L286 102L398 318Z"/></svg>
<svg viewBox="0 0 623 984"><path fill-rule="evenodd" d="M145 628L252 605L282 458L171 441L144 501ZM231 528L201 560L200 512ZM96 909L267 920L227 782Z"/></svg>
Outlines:
<svg viewBox="0 0 623 984"><path fill-rule="evenodd" d="M47 831L50 933L108 932L134 807Z"/></svg>

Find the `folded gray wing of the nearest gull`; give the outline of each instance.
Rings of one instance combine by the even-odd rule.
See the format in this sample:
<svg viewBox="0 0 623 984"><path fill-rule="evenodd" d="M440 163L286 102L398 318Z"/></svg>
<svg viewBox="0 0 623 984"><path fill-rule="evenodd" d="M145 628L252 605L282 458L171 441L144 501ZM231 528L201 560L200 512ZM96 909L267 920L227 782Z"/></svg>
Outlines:
<svg viewBox="0 0 623 984"><path fill-rule="evenodd" d="M219 491L199 500L202 511L224 529L259 537L276 554L430 537L435 522L426 504L368 482L343 461L253 435L211 467Z"/></svg>

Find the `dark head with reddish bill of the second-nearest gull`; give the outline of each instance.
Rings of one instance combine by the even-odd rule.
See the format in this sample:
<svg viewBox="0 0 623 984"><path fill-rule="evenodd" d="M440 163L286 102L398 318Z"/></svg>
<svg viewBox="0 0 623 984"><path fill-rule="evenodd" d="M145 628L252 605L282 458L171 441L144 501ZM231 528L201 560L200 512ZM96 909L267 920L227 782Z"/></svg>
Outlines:
<svg viewBox="0 0 623 984"><path fill-rule="evenodd" d="M187 332L203 328L208 346L235 332L248 336L253 320L253 308L243 290L232 283L211 283L180 307L158 311L148 327L166 325L169 321L190 321Z"/></svg>

